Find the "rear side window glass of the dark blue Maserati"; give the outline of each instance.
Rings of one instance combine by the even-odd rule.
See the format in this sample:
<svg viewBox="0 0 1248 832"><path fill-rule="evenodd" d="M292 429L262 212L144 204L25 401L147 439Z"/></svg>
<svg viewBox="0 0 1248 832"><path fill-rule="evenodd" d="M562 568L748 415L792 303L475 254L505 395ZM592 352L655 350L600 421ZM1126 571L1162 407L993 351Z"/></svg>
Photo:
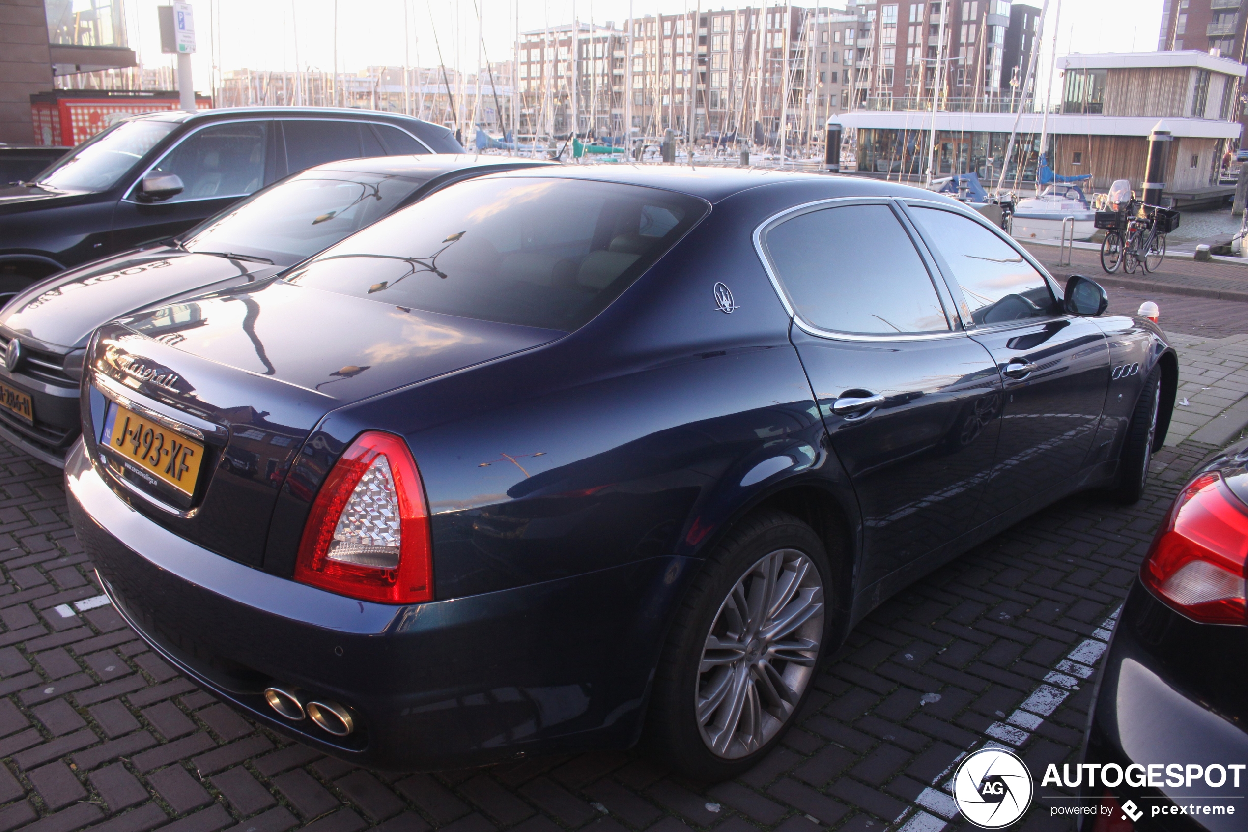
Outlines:
<svg viewBox="0 0 1248 832"><path fill-rule="evenodd" d="M820 329L948 329L931 276L887 206L802 213L769 230L765 244L797 314Z"/></svg>

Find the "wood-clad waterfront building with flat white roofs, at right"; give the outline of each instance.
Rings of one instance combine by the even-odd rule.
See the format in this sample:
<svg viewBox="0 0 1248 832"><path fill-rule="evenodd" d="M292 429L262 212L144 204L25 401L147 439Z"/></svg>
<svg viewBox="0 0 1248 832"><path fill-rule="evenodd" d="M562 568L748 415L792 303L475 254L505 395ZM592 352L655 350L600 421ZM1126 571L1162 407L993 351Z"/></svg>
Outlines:
<svg viewBox="0 0 1248 832"><path fill-rule="evenodd" d="M1048 115L1048 163L1061 175L1092 176L1103 191L1129 180L1138 191L1148 161L1148 135L1158 125L1174 137L1167 191L1217 186L1222 156L1239 143L1243 64L1197 51L1111 52L1058 59L1061 102ZM934 116L927 111L871 110L841 116L857 130L859 171L926 175ZM1005 158L1013 112L935 114L934 176L977 172L1007 186L1033 187L1043 114L1025 112L1012 157Z"/></svg>

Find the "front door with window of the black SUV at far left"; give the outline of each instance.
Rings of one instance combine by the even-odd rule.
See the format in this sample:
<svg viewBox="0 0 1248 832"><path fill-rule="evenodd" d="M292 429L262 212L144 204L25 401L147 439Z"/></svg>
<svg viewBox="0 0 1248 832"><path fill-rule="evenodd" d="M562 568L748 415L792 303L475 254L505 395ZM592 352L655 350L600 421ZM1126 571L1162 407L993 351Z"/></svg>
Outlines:
<svg viewBox="0 0 1248 832"><path fill-rule="evenodd" d="M149 171L176 175L182 192L144 202L135 182L114 212L112 251L180 235L272 181L271 132L268 121L228 121L188 133Z"/></svg>

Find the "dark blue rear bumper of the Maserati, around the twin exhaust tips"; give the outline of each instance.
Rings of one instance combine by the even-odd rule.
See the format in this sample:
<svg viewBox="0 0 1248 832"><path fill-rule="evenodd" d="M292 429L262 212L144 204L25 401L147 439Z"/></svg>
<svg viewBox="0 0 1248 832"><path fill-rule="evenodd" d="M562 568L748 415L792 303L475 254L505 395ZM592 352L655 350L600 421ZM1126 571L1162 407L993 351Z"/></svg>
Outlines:
<svg viewBox="0 0 1248 832"><path fill-rule="evenodd" d="M75 530L119 611L248 716L389 770L628 747L670 614L696 561L651 558L414 606L356 601L221 558L151 523L66 458ZM270 685L349 706L336 738L265 704Z"/></svg>

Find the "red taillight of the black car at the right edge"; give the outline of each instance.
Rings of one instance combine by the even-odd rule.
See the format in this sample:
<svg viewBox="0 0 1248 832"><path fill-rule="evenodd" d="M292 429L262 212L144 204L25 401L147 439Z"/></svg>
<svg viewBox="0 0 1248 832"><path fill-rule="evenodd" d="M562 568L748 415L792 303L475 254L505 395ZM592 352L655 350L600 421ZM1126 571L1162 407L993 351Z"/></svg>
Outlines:
<svg viewBox="0 0 1248 832"><path fill-rule="evenodd" d="M1194 621L1244 625L1246 555L1248 506L1219 474L1202 474L1174 500L1139 576Z"/></svg>

